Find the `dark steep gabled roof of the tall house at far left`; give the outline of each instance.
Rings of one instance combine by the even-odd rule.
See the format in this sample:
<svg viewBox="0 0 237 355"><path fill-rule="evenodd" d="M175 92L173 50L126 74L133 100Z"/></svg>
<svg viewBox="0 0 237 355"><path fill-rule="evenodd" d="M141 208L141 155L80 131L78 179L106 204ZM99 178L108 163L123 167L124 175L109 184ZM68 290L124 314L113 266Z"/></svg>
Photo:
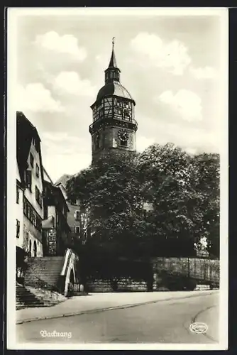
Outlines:
<svg viewBox="0 0 237 355"><path fill-rule="evenodd" d="M27 159L31 149L32 138L38 142L40 152L40 136L38 131L21 111L16 112L16 159L21 181L24 181L24 171L28 168ZM41 157L41 155L40 155Z"/></svg>

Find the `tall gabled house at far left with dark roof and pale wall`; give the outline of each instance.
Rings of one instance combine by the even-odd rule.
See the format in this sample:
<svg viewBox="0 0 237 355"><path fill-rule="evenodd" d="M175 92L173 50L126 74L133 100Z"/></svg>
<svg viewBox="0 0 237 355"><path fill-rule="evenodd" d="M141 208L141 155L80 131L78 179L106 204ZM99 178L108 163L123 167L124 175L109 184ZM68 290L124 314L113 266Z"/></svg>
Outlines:
<svg viewBox="0 0 237 355"><path fill-rule="evenodd" d="M16 113L16 125L18 179L21 180L17 179L16 187L16 200L19 197L17 219L20 224L17 245L20 244L29 256L43 256L43 165L40 137L35 126L22 112ZM22 190L19 189L19 182Z"/></svg>

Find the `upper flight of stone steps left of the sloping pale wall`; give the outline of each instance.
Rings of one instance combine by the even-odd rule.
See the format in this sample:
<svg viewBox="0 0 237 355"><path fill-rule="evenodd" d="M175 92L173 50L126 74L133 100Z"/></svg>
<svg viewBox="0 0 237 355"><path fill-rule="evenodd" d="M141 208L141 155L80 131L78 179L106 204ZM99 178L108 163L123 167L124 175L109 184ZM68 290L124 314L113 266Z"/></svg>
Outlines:
<svg viewBox="0 0 237 355"><path fill-rule="evenodd" d="M52 290L59 288L60 273L64 256L43 256L42 258L28 258L24 285L38 288L40 283L50 285ZM47 287L46 287L47 288Z"/></svg>

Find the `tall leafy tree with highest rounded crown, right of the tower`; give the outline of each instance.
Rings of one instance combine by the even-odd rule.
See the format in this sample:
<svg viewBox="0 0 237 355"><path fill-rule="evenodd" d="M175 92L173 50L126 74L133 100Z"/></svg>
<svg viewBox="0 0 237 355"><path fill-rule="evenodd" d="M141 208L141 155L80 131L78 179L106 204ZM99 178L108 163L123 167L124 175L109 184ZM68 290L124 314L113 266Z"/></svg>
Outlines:
<svg viewBox="0 0 237 355"><path fill-rule="evenodd" d="M171 143L155 144L140 155L140 179L153 204L154 250L164 256L194 253L192 209L197 198L189 169L191 157Z"/></svg>

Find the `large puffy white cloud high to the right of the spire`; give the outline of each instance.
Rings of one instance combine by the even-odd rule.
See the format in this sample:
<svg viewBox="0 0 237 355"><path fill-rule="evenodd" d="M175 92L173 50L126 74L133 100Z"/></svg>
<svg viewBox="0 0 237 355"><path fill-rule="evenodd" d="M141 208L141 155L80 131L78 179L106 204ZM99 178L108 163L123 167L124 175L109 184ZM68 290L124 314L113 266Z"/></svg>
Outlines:
<svg viewBox="0 0 237 355"><path fill-rule="evenodd" d="M151 65L164 68L174 75L182 75L192 61L187 47L179 40L165 43L153 33L138 33L131 40L131 48L141 55L141 65L147 67L149 61Z"/></svg>

